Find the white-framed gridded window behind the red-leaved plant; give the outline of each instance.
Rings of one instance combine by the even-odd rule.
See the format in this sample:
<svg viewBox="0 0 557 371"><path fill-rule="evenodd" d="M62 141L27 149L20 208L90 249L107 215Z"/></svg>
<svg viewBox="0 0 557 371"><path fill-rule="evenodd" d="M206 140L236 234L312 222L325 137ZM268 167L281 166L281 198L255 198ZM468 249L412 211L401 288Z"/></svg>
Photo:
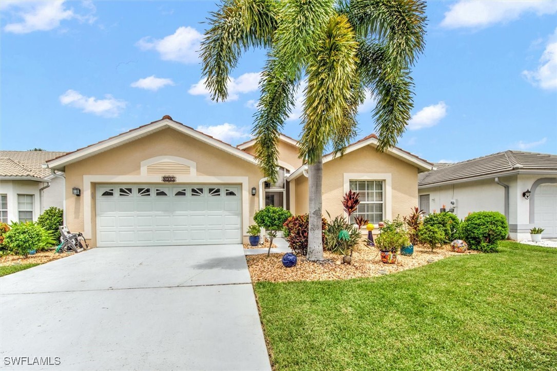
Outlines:
<svg viewBox="0 0 557 371"><path fill-rule="evenodd" d="M370 223L379 223L384 219L384 182L383 180L350 180L350 190L360 194L358 209L350 216L362 216Z"/></svg>

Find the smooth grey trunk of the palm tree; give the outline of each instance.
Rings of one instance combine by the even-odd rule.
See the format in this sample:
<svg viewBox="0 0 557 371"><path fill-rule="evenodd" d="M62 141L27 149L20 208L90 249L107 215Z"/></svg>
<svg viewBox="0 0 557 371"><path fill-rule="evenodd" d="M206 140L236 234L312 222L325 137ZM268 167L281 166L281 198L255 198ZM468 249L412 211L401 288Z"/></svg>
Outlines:
<svg viewBox="0 0 557 371"><path fill-rule="evenodd" d="M309 231L307 236L307 260L323 260L323 238L321 228L323 199L321 188L323 185L323 158L307 167L307 183L309 186Z"/></svg>

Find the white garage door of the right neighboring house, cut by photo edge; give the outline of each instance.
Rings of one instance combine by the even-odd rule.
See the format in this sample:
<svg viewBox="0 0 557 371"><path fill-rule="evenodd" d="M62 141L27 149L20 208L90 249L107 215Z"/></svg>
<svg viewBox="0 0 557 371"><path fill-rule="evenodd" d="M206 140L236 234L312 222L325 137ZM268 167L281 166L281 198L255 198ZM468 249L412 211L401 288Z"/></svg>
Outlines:
<svg viewBox="0 0 557 371"><path fill-rule="evenodd" d="M557 184L542 184L536 189L534 225L544 228L542 237L557 237Z"/></svg>

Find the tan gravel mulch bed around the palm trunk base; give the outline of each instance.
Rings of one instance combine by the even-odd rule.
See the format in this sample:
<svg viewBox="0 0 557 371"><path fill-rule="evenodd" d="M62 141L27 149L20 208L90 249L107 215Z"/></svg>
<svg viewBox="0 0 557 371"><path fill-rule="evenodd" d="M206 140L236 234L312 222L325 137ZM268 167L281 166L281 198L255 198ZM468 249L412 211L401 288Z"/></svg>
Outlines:
<svg viewBox="0 0 557 371"><path fill-rule="evenodd" d="M271 254L270 257L251 255L246 256L246 260L252 282L325 281L380 276L416 268L453 255L477 253L458 253L449 249L449 245L444 245L431 252L430 248L417 245L414 246L412 256L399 254L395 264L383 263L377 248L368 248L365 245L360 245L358 251L354 251L350 265L342 263L343 256L328 251L324 252L325 262L309 262L304 256L299 256L296 266L292 268L282 265L282 254Z"/></svg>

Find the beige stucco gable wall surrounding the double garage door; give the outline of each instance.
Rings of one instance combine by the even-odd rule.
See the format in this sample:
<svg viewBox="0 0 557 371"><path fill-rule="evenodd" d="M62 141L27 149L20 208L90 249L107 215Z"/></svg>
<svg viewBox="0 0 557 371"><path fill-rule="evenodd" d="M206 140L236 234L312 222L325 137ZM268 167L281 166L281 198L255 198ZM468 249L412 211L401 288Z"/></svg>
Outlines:
<svg viewBox="0 0 557 371"><path fill-rule="evenodd" d="M70 231L84 231L84 197L72 195L72 187L84 189L84 175L140 175L140 163L153 157L172 155L197 163L197 176L248 177L248 189L258 188L262 174L257 165L248 163L234 155L203 143L173 129L164 129L143 138L131 141L102 152L93 157L66 166L66 210ZM185 179L185 177L180 177ZM139 182L149 183L149 182ZM182 183L182 182L180 182ZM183 183L188 183L185 180ZM91 189L91 243L95 246L95 183ZM248 218L253 222L253 214L258 209L258 197L249 196ZM246 211L244 211L246 212ZM242 232L247 226L242 225Z"/></svg>

